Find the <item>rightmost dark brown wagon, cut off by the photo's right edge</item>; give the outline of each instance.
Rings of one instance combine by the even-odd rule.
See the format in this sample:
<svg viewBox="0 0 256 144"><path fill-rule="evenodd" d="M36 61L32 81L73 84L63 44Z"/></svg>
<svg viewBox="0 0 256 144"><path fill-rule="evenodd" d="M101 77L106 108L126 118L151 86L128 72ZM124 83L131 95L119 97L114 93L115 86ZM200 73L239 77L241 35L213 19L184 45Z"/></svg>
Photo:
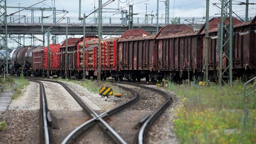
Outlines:
<svg viewBox="0 0 256 144"><path fill-rule="evenodd" d="M256 16L243 24L234 25L233 42L234 79L248 80L256 74Z"/></svg>

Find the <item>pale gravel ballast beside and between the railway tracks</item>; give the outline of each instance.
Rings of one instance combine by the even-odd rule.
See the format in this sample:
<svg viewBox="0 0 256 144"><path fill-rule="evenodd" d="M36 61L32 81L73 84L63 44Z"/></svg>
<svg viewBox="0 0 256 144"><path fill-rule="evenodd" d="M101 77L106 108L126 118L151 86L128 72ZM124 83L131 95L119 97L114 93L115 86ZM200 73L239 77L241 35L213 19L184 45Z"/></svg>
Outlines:
<svg viewBox="0 0 256 144"><path fill-rule="evenodd" d="M72 100L70 94L64 90L59 84L44 82L45 87L52 87L54 90L46 91L46 94L50 95L48 102L51 110L81 110L80 106ZM89 92L86 88L78 84L71 82L64 82L74 92L76 92L81 98L94 110L98 112L104 112L116 107L117 105L130 100L133 96L129 92L120 90L122 97L109 96L105 101L99 94ZM152 86L156 88L156 86ZM46 88L48 89L48 88ZM136 88L134 88L136 89ZM160 88L164 90L163 88ZM4 131L0 132L0 144L13 144L13 143L38 143L39 140L39 85L35 82L30 82L29 86L23 89L23 96L18 97L16 100L12 100L8 110L0 115L0 121L6 121L7 127ZM147 91L145 91L146 93ZM172 120L174 118L174 112L176 108L182 103L182 100L174 94L174 92L167 93L172 96L173 102L163 112L163 114L154 122L148 132L148 138L146 143L179 143L176 135L173 132L174 125ZM71 99L70 99L71 97ZM147 100L147 99L145 99ZM156 99L157 100L157 99ZM64 103L68 101L68 105ZM70 104L71 103L71 104ZM148 103L151 103L148 101ZM63 106L64 104L64 106ZM152 109L154 109L154 102L152 102ZM151 108L150 108L151 109ZM31 132L32 131L32 132ZM34 131L34 132L33 132Z"/></svg>

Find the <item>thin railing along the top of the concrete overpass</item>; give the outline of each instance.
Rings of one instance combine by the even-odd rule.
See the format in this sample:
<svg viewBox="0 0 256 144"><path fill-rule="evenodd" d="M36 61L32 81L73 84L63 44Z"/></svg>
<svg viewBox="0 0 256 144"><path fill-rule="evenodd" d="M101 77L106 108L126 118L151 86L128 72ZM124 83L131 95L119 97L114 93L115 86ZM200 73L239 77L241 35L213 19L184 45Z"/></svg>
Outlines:
<svg viewBox="0 0 256 144"><path fill-rule="evenodd" d="M1 17L4 18L4 17ZM56 17L56 21L58 21L61 17ZM214 18L214 17L210 17ZM178 24L204 24L205 18L204 17L170 17L170 24L172 23L172 20L176 20ZM245 18L242 18L243 20ZM249 20L252 20L253 17L249 17ZM156 24L156 17L148 16L148 18L145 17L134 17L133 23L134 24ZM34 16L32 18L31 16L8 16L7 18L8 23L41 23L41 17L40 16ZM44 18L44 23L53 23L53 17ZM64 17L62 20L60 20L59 23L74 23L74 24L82 24L82 20L78 20L78 17ZM158 18L159 25L165 25L165 18L160 17ZM120 17L102 17L102 24L126 24L128 23L126 18L120 18ZM88 17L86 18L86 24L98 24L98 18L97 17Z"/></svg>

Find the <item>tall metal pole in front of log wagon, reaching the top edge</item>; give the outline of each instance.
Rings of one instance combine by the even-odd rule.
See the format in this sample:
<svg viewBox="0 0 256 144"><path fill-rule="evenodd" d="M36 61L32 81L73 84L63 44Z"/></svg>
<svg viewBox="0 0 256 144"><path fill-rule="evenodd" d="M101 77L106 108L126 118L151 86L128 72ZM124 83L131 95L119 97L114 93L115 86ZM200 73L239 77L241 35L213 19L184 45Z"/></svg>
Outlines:
<svg viewBox="0 0 256 144"><path fill-rule="evenodd" d="M100 82L100 78L101 78L101 58L100 58L100 39L101 39L101 4L102 4L102 0L99 0L99 10L98 10L98 19L99 19L99 24L98 24L98 81Z"/></svg>

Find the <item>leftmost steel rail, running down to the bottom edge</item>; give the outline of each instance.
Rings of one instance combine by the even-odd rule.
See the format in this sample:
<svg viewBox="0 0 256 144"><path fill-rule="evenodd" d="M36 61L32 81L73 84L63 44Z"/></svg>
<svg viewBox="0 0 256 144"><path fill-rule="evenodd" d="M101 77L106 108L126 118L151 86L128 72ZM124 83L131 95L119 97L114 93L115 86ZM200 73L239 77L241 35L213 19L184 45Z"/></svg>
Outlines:
<svg viewBox="0 0 256 144"><path fill-rule="evenodd" d="M38 80L29 80L31 82L36 82L40 86L40 128L41 128L41 134L42 134L42 141L45 144L50 144L50 135L49 135L49 129L48 129L48 122L47 122L47 112L48 112L48 106L47 106L47 100L46 100L46 94L44 90L44 84Z"/></svg>

